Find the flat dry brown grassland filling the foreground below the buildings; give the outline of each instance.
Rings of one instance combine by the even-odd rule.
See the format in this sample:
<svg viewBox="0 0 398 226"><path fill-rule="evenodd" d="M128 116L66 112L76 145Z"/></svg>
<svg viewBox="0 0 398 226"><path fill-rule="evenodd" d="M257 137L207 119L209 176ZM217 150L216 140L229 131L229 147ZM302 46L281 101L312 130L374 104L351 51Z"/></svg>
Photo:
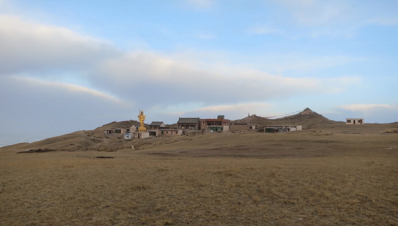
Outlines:
<svg viewBox="0 0 398 226"><path fill-rule="evenodd" d="M0 225L398 225L398 134L134 143L0 152Z"/></svg>

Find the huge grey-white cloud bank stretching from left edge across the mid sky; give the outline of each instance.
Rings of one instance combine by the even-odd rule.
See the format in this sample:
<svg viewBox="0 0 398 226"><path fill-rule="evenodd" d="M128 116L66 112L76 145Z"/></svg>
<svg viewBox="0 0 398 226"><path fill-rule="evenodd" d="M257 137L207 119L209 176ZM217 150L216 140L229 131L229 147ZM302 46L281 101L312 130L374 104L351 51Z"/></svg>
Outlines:
<svg viewBox="0 0 398 226"><path fill-rule="evenodd" d="M0 62L0 66L6 68L2 71L4 74L27 75L29 78L19 79L32 87L53 87L53 90L67 91L63 93L90 95L115 103L126 104L125 99L134 100L139 108L149 109L152 114L231 111L235 112L236 118L241 118L247 111L266 112L269 105L264 101L341 92L351 84L350 79L357 79L289 77L267 72L277 70L275 68L317 70L353 60L344 56L306 60L298 54L280 55L279 58L265 56L259 57L257 62L263 68L256 68L256 63L245 63L252 62L253 57L233 56L226 52L161 54L141 50L121 53L108 42L62 27L11 16L2 16L0 21L11 24L0 24L0 34L4 35L0 39L5 41L1 42L5 44L0 48L12 53L7 58L7 54L0 52L0 58L5 59ZM10 46L23 48L14 51L9 49ZM264 60L266 57L273 60ZM40 71L48 68L62 72ZM90 87L60 82L68 81L62 79L67 74L64 70L77 71L74 77L84 77ZM38 74L40 77L36 78ZM52 79L43 79L45 75Z"/></svg>

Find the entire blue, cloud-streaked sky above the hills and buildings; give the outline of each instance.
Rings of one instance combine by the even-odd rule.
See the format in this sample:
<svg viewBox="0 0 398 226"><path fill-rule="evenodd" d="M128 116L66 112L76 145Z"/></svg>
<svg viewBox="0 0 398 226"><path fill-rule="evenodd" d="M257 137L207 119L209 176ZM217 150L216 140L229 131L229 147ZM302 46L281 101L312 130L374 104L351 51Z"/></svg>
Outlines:
<svg viewBox="0 0 398 226"><path fill-rule="evenodd" d="M0 0L2 131L236 120L309 107L398 121L398 1Z"/></svg>

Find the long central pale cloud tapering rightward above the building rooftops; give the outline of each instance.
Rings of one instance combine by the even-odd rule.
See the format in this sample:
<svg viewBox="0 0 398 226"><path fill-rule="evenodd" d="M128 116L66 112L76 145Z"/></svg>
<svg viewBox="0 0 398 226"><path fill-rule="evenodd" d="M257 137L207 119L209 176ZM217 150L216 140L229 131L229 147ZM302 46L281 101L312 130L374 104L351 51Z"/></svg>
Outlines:
<svg viewBox="0 0 398 226"><path fill-rule="evenodd" d="M222 99L247 102L281 99L298 93L336 93L351 84L348 80L359 80L357 77L322 79L271 75L222 62L205 66L202 67L200 61L180 61L167 55L140 51L104 62L90 77L94 84L118 95L134 87L135 91L144 91L148 99L155 98L158 102L204 100L205 104L220 104ZM325 86L333 89L324 89ZM162 95L156 95L155 90L163 90Z"/></svg>

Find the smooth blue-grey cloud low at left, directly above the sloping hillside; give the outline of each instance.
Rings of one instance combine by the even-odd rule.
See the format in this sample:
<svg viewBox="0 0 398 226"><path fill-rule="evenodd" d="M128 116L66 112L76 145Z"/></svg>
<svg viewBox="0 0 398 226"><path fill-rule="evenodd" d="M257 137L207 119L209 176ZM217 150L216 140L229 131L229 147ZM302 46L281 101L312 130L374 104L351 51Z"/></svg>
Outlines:
<svg viewBox="0 0 398 226"><path fill-rule="evenodd" d="M103 124L137 119L135 106L68 84L0 77L0 124L31 134L62 135ZM137 107L138 109L138 107Z"/></svg>

